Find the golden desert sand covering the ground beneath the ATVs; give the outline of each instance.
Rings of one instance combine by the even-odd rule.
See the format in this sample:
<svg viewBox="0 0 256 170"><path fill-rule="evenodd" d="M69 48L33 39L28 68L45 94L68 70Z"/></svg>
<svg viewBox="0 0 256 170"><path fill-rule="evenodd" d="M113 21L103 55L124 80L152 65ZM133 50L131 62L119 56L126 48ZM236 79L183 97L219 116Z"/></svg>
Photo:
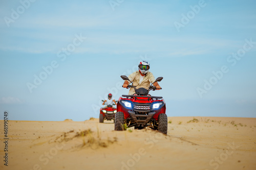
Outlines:
<svg viewBox="0 0 256 170"><path fill-rule="evenodd" d="M10 120L0 169L256 169L256 118L168 117L167 135L98 122Z"/></svg>

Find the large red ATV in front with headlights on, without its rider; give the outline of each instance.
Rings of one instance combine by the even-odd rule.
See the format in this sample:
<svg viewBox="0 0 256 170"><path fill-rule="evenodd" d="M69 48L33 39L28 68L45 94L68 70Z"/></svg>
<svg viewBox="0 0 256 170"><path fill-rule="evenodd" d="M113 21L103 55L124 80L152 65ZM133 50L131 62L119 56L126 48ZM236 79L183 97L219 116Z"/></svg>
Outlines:
<svg viewBox="0 0 256 170"><path fill-rule="evenodd" d="M121 78L130 81L126 76L121 76ZM162 77L159 77L155 82L160 82L162 79ZM145 88L137 89L133 85L127 86L127 88L134 88L135 94L122 95L119 98L115 115L115 130L122 131L130 127L134 127L134 129L148 127L167 134L168 123L165 114L165 102L162 97L148 94L150 90L156 90L156 87L152 84L148 90Z"/></svg>

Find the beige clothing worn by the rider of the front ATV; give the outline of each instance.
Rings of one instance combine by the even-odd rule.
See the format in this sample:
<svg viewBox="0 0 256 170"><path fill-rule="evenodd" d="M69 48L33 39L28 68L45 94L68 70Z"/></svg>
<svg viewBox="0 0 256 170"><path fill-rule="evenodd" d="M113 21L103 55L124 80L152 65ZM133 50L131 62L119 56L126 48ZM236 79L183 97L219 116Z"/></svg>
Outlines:
<svg viewBox="0 0 256 170"><path fill-rule="evenodd" d="M156 81L152 72L148 71L147 74L144 76L141 84L140 83L140 71L133 72L130 76L128 76L129 80L133 82L133 86L137 86L136 88L150 88L150 84ZM131 83L129 82L129 83ZM129 95L133 95L135 93L134 88L130 88Z"/></svg>

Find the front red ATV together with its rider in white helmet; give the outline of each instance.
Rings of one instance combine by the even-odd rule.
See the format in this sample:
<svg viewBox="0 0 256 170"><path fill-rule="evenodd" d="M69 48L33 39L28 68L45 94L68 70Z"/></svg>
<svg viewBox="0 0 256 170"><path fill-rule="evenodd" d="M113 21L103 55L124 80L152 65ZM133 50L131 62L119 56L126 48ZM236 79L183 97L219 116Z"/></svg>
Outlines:
<svg viewBox="0 0 256 170"><path fill-rule="evenodd" d="M150 64L142 61L139 64L139 71L128 77L121 76L125 81L124 88L131 88L129 95L122 95L117 103L115 113L115 130L122 131L127 128L134 129L151 128L167 134L166 105L162 96L152 96L151 90L162 89L157 82L163 77L155 77L151 72ZM129 85L130 83L132 85Z"/></svg>

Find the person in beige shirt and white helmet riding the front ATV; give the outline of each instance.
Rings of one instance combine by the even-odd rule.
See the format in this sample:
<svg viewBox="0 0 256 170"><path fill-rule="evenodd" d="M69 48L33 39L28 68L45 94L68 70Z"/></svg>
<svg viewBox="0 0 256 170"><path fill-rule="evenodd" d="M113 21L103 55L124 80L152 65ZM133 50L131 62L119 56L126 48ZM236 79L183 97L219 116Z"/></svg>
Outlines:
<svg viewBox="0 0 256 170"><path fill-rule="evenodd" d="M155 77L152 72L148 71L150 69L150 63L147 61L142 61L139 63L139 71L133 72L128 78L133 83L133 86L137 86L137 89L140 87L148 89L150 87L150 83L155 82ZM124 81L123 88L127 88L130 84L128 81ZM157 90L160 90L161 87L157 82L153 84ZM129 95L133 95L135 93L134 88L131 88L129 91Z"/></svg>

